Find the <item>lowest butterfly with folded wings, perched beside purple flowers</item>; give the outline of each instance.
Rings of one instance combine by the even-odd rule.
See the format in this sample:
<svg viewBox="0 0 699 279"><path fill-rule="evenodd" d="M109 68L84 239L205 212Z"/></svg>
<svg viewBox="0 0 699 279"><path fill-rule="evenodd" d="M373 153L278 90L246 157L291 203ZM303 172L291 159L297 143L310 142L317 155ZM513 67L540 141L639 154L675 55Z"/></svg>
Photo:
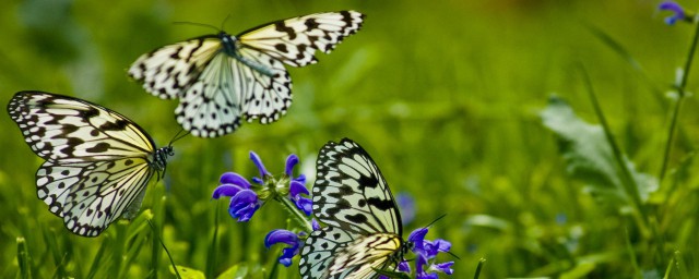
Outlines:
<svg viewBox="0 0 699 279"><path fill-rule="evenodd" d="M313 214L325 227L304 247L301 278L378 278L410 250L401 215L379 167L352 140L320 150L312 189Z"/></svg>

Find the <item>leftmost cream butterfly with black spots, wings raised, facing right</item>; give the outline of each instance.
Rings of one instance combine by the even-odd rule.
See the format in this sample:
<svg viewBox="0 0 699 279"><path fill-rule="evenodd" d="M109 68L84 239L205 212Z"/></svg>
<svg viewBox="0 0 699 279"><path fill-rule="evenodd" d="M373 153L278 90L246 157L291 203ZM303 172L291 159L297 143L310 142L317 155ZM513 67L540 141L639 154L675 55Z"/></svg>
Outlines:
<svg viewBox="0 0 699 279"><path fill-rule="evenodd" d="M149 180L162 178L174 155L171 146L155 149L133 121L86 100L19 92L8 113L46 160L36 171L38 198L79 235L97 236L119 217L133 218Z"/></svg>

